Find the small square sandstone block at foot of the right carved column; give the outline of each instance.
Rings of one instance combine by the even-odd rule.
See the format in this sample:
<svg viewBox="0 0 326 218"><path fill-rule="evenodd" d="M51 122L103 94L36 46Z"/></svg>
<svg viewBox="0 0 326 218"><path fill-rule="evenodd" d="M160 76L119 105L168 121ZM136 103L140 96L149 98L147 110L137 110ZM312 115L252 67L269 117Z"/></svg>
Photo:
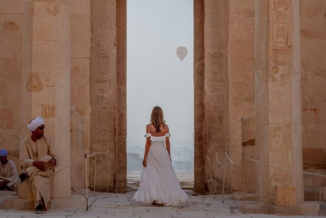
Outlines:
<svg viewBox="0 0 326 218"><path fill-rule="evenodd" d="M291 185L277 185L275 189L276 206L295 206L295 187Z"/></svg>

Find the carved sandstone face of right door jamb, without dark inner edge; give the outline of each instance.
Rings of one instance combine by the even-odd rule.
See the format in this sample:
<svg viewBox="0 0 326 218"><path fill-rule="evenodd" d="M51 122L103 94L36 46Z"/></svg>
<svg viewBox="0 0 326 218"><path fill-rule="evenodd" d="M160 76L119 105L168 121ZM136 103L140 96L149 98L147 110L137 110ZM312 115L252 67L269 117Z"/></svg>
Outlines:
<svg viewBox="0 0 326 218"><path fill-rule="evenodd" d="M226 151L227 141L227 28L226 0L205 2L205 187L212 192L217 177L215 152ZM214 160L214 161L212 161ZM214 171L214 173L213 173ZM218 178L216 178L219 180Z"/></svg>

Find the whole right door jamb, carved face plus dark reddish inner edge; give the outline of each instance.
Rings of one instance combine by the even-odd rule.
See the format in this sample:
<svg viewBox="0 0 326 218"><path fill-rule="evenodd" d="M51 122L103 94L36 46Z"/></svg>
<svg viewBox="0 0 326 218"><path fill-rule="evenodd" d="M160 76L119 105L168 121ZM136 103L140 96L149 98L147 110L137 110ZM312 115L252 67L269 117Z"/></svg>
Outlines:
<svg viewBox="0 0 326 218"><path fill-rule="evenodd" d="M195 4L200 5L200 1L195 1ZM228 1L205 1L205 4L200 6L205 8L195 11L195 17L198 16L198 20L202 18L205 22L205 43L200 45L196 42L196 38L199 40L201 35L195 35L195 53L200 52L196 45L198 43L198 47L203 47L201 49L204 52L205 67L196 68L195 64L195 190L212 193L217 176L215 152L221 154L226 151L228 141ZM196 24L195 18L195 29L200 29ZM196 56L194 61L198 61ZM197 107L200 101L203 101L203 108ZM201 125L200 119L204 122ZM217 177L218 181L222 180L222 174Z"/></svg>

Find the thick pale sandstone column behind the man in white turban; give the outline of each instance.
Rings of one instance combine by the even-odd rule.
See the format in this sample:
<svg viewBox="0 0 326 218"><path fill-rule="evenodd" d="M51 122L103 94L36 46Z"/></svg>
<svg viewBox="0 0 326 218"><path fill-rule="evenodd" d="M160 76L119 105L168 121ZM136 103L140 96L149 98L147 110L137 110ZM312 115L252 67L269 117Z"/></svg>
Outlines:
<svg viewBox="0 0 326 218"><path fill-rule="evenodd" d="M26 127L30 120L42 116L60 169L70 164L69 1L29 1L26 8L21 138L30 135ZM55 176L51 189L54 198L71 196L70 168Z"/></svg>

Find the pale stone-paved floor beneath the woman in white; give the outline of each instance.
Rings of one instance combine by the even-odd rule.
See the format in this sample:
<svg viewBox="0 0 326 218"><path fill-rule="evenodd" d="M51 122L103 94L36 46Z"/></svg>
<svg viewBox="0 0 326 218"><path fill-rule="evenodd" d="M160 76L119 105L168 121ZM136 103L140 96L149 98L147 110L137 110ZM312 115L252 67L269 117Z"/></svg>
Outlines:
<svg viewBox="0 0 326 218"><path fill-rule="evenodd" d="M89 210L85 207L52 209L44 214L35 214L33 211L0 209L0 217L326 217L326 216L281 216L268 214L242 214L239 212L240 201L233 201L232 195L225 196L222 203L221 195L196 195L186 190L189 201L178 207L157 207L151 204L136 203L132 200L135 190L126 194L90 192ZM0 192L0 203L10 192ZM77 193L78 194L78 193ZM194 194L194 195L193 195Z"/></svg>

